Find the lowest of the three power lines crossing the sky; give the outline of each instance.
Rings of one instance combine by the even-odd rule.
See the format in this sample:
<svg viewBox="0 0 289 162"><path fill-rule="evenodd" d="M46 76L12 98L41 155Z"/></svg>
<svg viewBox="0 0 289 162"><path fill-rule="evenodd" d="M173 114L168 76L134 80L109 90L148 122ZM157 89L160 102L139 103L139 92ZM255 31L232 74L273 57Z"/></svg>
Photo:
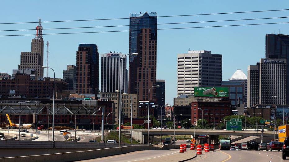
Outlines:
<svg viewBox="0 0 289 162"><path fill-rule="evenodd" d="M289 22L279 22L279 23L261 23L261 24L240 24L240 25L220 25L220 26L202 26L202 27L185 27L185 28L163 28L156 30L172 30L172 29L190 29L190 28L215 28L215 27L231 27L231 26L249 26L249 25L265 25L265 24L286 24ZM138 31L138 30L132 30ZM49 33L42 35L58 35L58 34L83 34L83 33L111 33L111 32L129 32L129 30L116 30L116 31L100 31L100 32L74 32L74 33ZM35 34L20 34L20 35L0 35L0 37L8 36L30 36Z"/></svg>

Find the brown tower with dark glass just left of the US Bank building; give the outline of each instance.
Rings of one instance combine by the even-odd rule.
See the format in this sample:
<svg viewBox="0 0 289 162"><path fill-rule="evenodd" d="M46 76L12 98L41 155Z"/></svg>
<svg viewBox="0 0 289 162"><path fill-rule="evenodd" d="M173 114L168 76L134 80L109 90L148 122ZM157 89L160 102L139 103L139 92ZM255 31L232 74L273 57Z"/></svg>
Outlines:
<svg viewBox="0 0 289 162"><path fill-rule="evenodd" d="M76 93L98 94L99 53L96 44L79 44L76 51Z"/></svg>

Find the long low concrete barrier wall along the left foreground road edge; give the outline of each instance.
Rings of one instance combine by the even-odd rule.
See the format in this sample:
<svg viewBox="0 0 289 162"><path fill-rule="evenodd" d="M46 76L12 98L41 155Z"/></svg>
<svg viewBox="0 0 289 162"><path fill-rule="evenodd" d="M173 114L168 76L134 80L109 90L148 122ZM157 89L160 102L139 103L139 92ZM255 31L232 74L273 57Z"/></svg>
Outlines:
<svg viewBox="0 0 289 162"><path fill-rule="evenodd" d="M33 156L21 156L21 157L11 157L11 158L0 158L1 162L44 162L49 159L49 161L54 162L66 162L66 161L77 161L77 160L87 160L94 159L105 156L125 154L133 151L142 150L164 150L179 148L179 145L165 145L163 147L153 147L153 146L125 146L117 148L107 148L89 151L78 151L78 152L67 152L67 153L57 153L57 154L47 154L47 155L33 155Z"/></svg>

